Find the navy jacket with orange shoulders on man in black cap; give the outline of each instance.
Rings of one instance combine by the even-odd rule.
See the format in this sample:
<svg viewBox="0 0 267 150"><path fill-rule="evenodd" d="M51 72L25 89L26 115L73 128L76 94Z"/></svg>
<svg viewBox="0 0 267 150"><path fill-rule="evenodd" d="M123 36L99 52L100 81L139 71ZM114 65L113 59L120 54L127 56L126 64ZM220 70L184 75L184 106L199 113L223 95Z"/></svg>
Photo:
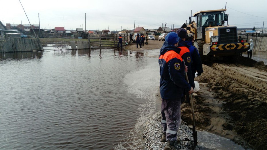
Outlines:
<svg viewBox="0 0 267 150"><path fill-rule="evenodd" d="M190 83L191 87L195 88L195 82L194 82L194 78L192 75L192 69L191 69L192 57L191 57L191 53L189 51L190 46L188 46L185 43L185 41L183 41L181 38L179 38L178 47L181 48L181 51L179 54L182 57L182 59L185 60L185 65L188 68L187 76L188 76L189 83Z"/></svg>

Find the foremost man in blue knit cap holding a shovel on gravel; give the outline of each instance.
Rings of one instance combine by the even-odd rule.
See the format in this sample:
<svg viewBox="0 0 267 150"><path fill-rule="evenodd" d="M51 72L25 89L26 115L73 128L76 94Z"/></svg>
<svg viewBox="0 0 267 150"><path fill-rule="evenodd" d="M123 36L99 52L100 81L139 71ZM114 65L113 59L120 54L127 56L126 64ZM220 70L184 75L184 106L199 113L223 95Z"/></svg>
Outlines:
<svg viewBox="0 0 267 150"><path fill-rule="evenodd" d="M185 80L187 66L179 55L181 48L178 46L178 35L170 32L165 37L165 42L160 49L158 63L160 66L160 96L161 125L163 129L162 142L166 142L165 150L176 149L177 131L181 124L181 98L183 91L190 94L193 88Z"/></svg>

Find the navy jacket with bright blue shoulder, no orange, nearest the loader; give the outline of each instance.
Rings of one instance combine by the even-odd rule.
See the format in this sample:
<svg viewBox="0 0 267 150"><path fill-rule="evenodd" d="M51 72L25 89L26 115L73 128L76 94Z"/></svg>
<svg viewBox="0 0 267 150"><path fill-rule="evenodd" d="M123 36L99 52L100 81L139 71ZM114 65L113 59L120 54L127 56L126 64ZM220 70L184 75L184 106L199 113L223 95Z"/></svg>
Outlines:
<svg viewBox="0 0 267 150"><path fill-rule="evenodd" d="M191 41L185 41L185 42L187 45L190 46L189 51L192 56L192 63L191 63L192 73L196 73L196 71L198 71L198 73L203 73L202 62L200 55L198 53L198 49L195 46L193 46L193 42Z"/></svg>

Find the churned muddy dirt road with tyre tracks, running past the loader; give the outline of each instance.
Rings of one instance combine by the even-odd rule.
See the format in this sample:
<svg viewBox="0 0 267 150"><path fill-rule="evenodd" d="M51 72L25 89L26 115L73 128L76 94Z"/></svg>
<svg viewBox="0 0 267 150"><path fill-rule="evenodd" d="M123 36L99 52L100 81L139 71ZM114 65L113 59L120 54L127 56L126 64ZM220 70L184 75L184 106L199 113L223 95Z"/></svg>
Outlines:
<svg viewBox="0 0 267 150"><path fill-rule="evenodd" d="M163 41L149 41L142 52L160 49ZM196 77L200 91L194 93L196 125L253 149L267 147L267 66L238 56L237 63L208 62ZM182 119L191 124L191 108L182 104Z"/></svg>

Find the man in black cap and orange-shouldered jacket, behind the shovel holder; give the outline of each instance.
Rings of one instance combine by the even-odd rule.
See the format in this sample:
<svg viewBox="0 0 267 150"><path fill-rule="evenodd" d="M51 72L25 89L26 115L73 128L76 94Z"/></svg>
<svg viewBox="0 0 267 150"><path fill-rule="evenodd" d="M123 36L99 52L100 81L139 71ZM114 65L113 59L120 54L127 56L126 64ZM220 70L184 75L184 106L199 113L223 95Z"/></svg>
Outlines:
<svg viewBox="0 0 267 150"><path fill-rule="evenodd" d="M187 31L184 28L180 28L177 30L177 34L179 36L178 47L181 48L181 51L179 54L182 57L182 59L185 61L185 65L188 67L187 76L188 76L189 84L191 85L191 87L195 88L195 82L194 82L192 69L191 69L192 57L189 51L190 46L188 46L185 43ZM189 94L186 92L185 95L186 95L186 102L190 104ZM185 97L182 98L182 103L184 102L184 100L185 100Z"/></svg>

